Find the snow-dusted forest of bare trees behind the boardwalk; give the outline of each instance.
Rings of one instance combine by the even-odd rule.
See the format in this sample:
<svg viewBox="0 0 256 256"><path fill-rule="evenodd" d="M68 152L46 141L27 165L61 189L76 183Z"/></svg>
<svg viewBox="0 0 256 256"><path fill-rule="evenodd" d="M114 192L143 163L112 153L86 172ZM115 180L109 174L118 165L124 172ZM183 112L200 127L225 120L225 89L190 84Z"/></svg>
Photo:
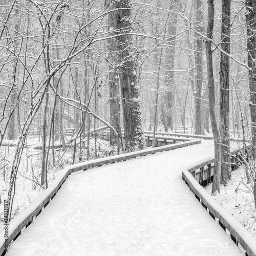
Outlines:
<svg viewBox="0 0 256 256"><path fill-rule="evenodd" d="M255 200L255 33L254 0L1 0L8 218L32 200L15 204L18 189L36 197L64 166L142 150L143 131L152 147L156 132L213 136L212 193L240 141Z"/></svg>

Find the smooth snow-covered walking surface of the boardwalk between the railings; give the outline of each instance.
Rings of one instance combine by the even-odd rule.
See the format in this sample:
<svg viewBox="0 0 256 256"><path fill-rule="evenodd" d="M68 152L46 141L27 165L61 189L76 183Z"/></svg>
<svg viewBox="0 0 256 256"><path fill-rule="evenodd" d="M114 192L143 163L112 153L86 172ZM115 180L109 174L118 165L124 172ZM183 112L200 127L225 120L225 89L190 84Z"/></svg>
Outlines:
<svg viewBox="0 0 256 256"><path fill-rule="evenodd" d="M70 175L7 256L243 255L182 181L212 141Z"/></svg>

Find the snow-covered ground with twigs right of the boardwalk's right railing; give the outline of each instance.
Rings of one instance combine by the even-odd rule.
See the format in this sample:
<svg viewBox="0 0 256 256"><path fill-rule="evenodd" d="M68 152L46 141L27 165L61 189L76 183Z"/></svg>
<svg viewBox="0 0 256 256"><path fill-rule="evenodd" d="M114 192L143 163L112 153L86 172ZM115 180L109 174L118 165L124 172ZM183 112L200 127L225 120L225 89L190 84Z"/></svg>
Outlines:
<svg viewBox="0 0 256 256"><path fill-rule="evenodd" d="M211 184L206 190L211 193ZM245 169L240 167L232 172L231 180L226 186L221 185L220 193L214 198L255 236L256 211L251 190L251 185L247 184Z"/></svg>

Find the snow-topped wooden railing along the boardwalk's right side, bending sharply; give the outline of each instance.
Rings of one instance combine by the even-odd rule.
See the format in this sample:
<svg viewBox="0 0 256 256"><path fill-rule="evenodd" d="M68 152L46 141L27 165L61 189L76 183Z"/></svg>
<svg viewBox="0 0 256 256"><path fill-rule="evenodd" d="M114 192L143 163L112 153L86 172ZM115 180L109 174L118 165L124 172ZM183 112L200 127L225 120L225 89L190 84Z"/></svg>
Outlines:
<svg viewBox="0 0 256 256"><path fill-rule="evenodd" d="M234 151L232 152L233 161L236 160L235 153ZM201 202L202 206L209 212L209 215L215 220L217 219L224 231L229 233L232 241L236 245L240 244L244 248L245 255L256 256L256 239L199 184L199 182L202 184L208 183L213 175L213 166L214 159L212 158L194 163L192 166L183 170L182 179L195 194L198 201Z"/></svg>

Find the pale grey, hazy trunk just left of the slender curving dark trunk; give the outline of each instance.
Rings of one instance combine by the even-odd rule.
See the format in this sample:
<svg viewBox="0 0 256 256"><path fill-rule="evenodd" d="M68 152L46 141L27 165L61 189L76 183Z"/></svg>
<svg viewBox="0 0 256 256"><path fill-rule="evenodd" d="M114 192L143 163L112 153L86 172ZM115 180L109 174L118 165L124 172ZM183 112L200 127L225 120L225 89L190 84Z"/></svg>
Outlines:
<svg viewBox="0 0 256 256"><path fill-rule="evenodd" d="M195 10L196 10L196 21L195 26L198 33L203 32L203 10L202 10L202 0L195 0ZM195 133L204 134L204 121L202 112L202 84L203 84L203 40L200 35L196 34L195 41Z"/></svg>

